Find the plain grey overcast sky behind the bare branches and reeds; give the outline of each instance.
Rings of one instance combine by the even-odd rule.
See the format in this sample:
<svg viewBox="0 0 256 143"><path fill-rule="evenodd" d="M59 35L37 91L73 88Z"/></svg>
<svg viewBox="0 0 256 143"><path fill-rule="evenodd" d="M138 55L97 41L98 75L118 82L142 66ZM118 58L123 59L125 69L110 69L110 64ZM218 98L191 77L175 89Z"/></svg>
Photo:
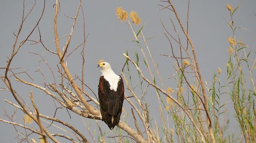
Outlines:
<svg viewBox="0 0 256 143"><path fill-rule="evenodd" d="M172 2L181 18L182 23L185 25L187 15L187 1L173 0ZM26 1L25 13L30 10L30 7L33 3L34 1L32 0ZM53 8L53 4L55 4L55 1L46 1L45 13L39 23L39 27L44 44L50 50L55 51L55 43L52 42L55 40L53 31L53 18L55 8ZM138 16L141 18L142 24L139 26L133 25L134 30L135 32L137 32L139 28L143 24L145 24L143 28L143 33L145 35L145 38L153 37L148 40L148 46L155 59L155 62L159 63L160 74L161 77L164 79L165 87L175 87L175 82L167 80L170 75L175 73L173 69L174 59L160 56L160 54L171 55L170 45L165 38L164 29L160 23L160 18L166 25L167 29L175 35L169 20L169 18L172 18L174 20L175 16L170 10L158 10L162 8L158 6L158 4L165 5L165 3L158 0L82 1L82 7L85 12L86 35L89 34L85 47L85 83L90 86L96 94L98 92L98 80L101 75L100 69L97 68L98 59L104 59L105 61L109 62L112 65L112 69L116 72L116 74L121 74L121 69L125 62L125 57L122 55L122 53L125 53L128 50L129 55L131 55L133 59L135 59L134 52L137 51L140 53L140 48L138 47L138 44L136 42L132 42L132 40L134 40L134 35L132 34L131 29L128 27L127 24L119 21L119 19L116 17L116 7L122 7L125 11L128 12L136 11L138 13ZM247 29L237 30L236 38L241 39L246 45L249 45L250 49L255 50L256 46L255 0L191 0L188 33L196 49L197 59L203 76L203 80L207 81L208 83L211 82L212 75L214 72L216 73L218 67L223 69L223 71L226 70L226 62L229 58L229 43L227 41L227 38L232 36L232 31L227 24L227 22L230 21L230 15L229 11L226 8L226 4L230 4L233 8L239 6L236 13L234 14L234 24L236 27L243 27ZM1 1L0 3L0 67L5 67L7 65L7 57L10 57L11 55L12 45L15 40L13 32L17 33L19 25L21 23L22 5L22 0L6 0ZM26 22L24 23L23 30L18 42L24 39L25 36L30 33L30 31L36 24L36 21L39 19L39 16L42 12L42 7L43 1L37 0L36 6L33 9L32 14L27 18ZM60 1L61 11L58 16L59 37L69 34L73 23L73 19L65 17L64 14L70 17L75 16L77 7L78 1ZM79 24L76 24L74 29L74 34L71 40L71 44L69 46L68 53L73 48L76 48L78 45L80 45L83 41L83 19L81 13L79 13L78 22ZM178 27L177 22L175 22L175 24L176 27ZM180 28L178 28L178 32L181 32ZM35 41L39 40L37 30L34 34L31 35L29 39ZM63 38L62 40L60 40L60 47L63 47L66 39L67 38ZM182 42L185 45L186 39L182 38ZM17 56L14 58L11 68L22 67L17 71L28 70L28 73L32 76L34 81L31 81L25 75L19 76L35 84L42 84L42 76L39 72L35 72L37 71L38 61L40 61L40 57L28 53L34 52L42 55L49 63L49 65L53 68L55 76L58 76L56 68L56 65L59 63L58 57L56 57L56 55L50 54L47 51L44 53L45 49L40 44L29 44L32 44L32 42L27 42L23 45ZM67 64L73 76L75 74L81 75L80 52L81 50L74 52L73 55L70 56L68 59ZM140 56L140 67L142 68L142 71L144 71L144 74L150 79L147 69L143 64L142 55L140 54ZM255 58L255 55L252 56L254 56ZM43 69L45 76L48 77L46 79L46 83L53 83L53 78L49 69L47 69L47 66L43 63L40 63L40 65ZM0 75L3 76L4 70L0 70ZM134 78L138 77L136 75L136 72L134 72L134 74ZM255 77L255 73L253 77ZM225 74L222 74L221 78L223 79L223 81L225 81ZM136 83L135 81L134 84L136 85L138 83ZM157 82L157 84L160 85L159 81ZM40 107L39 111L45 115L53 116L55 112L53 101L49 96L45 95L45 93L31 88L30 86L15 82L14 80L13 87L20 94L20 96L26 99L29 103L30 101L28 95L30 91L33 91L35 102ZM6 88L3 82L0 82L0 88ZM152 90L152 88L150 90ZM91 92L89 93L92 95ZM128 92L127 94L129 95ZM152 93L152 96L155 96L155 93ZM0 92L0 118L8 120L4 116L3 109L6 109L7 113L11 115L14 108L13 106L10 106L6 102L4 102L4 99L7 99L14 103L16 102L14 101L13 96L9 92ZM154 107L154 102L156 99L157 98L155 97L151 98L151 96L148 96L147 98L147 101L151 106L150 108L153 111L150 113L151 118L154 117L154 111L159 110L157 109L158 106ZM129 112L130 106L127 105L127 101L124 101L124 106L127 107L125 110ZM232 106L229 106L229 108L232 108ZM230 110L232 111L232 109ZM18 113L16 114L16 119L18 123L23 124L23 115L24 114L18 110ZM131 114L128 113L128 115L130 116ZM234 132L236 133L236 135L240 135L239 131L234 130L238 128L238 124L233 115L234 114L232 112L228 113L228 116L232 117L233 119L231 120L230 132ZM70 122L82 133L84 133L87 139L92 142L92 139L88 134L88 130L82 124L81 118L75 114L71 114L71 116L72 119L70 120L68 113L66 113L65 109L59 110L57 113L57 118ZM124 113L122 114L122 116L124 116ZM86 122L86 125L89 126L89 120L84 120ZM99 122L102 125L103 130L108 129L103 122ZM30 126L33 126L33 124ZM90 131L93 132L94 128L96 128L96 126L93 122ZM17 136L17 133L15 132L12 125L0 123L0 132L0 142L18 141L17 139L14 139ZM97 133L98 129L96 128L96 135L98 135ZM95 137L95 139L97 141L98 136Z"/></svg>

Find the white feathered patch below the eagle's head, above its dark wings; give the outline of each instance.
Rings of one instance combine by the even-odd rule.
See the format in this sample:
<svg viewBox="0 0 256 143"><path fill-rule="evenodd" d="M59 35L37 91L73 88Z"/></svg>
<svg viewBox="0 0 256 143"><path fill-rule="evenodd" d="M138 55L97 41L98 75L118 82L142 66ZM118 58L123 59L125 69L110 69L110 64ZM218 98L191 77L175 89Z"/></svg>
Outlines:
<svg viewBox="0 0 256 143"><path fill-rule="evenodd" d="M112 70L102 71L102 75L108 81L110 90L117 91L118 82L121 79L120 76L116 75Z"/></svg>

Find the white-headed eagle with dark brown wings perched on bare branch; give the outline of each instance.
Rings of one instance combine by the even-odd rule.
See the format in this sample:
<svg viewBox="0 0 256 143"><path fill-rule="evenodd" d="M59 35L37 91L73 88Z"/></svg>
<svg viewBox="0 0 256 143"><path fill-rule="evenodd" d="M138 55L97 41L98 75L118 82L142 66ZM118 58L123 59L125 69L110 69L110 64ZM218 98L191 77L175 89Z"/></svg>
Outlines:
<svg viewBox="0 0 256 143"><path fill-rule="evenodd" d="M99 78L98 95L102 120L109 129L114 129L120 120L124 102L124 82L120 75L112 71L107 62L98 63L102 68Z"/></svg>

